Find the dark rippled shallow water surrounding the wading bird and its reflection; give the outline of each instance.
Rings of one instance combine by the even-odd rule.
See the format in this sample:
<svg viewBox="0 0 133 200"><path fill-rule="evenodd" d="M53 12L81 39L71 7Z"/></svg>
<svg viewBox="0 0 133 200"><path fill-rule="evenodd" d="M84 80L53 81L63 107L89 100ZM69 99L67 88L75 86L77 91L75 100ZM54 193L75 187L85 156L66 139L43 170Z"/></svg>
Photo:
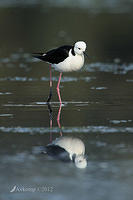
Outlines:
<svg viewBox="0 0 133 200"><path fill-rule="evenodd" d="M50 2L0 2L1 199L132 200L131 6L125 9L120 1L106 2L105 12L104 6L86 1L78 8L65 1ZM64 25L64 20L69 23ZM49 67L32 58L30 52L79 38L87 41L91 59L86 59L81 71L63 74L58 124L59 74L52 73L49 113ZM40 153L42 146L60 135L84 142L86 169Z"/></svg>

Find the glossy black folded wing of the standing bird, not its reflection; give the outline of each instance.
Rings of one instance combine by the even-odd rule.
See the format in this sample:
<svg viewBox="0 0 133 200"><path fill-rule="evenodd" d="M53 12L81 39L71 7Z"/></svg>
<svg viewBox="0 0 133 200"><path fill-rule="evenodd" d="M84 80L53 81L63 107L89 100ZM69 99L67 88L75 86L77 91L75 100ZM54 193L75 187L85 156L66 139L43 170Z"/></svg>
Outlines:
<svg viewBox="0 0 133 200"><path fill-rule="evenodd" d="M58 64L60 62L63 62L68 56L70 49L73 49L73 46L71 45L64 45L56 49L52 49L46 54L43 53L35 53L33 54L33 57L41 59L45 62L51 63L51 64Z"/></svg>

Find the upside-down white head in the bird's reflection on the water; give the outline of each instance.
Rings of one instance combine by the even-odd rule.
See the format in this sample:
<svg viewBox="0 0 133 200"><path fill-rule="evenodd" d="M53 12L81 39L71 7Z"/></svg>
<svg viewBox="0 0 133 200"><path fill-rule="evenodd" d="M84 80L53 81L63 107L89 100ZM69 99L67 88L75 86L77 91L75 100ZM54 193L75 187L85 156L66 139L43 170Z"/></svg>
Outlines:
<svg viewBox="0 0 133 200"><path fill-rule="evenodd" d="M87 160L84 155L76 156L74 162L77 168L83 169L87 167Z"/></svg>

